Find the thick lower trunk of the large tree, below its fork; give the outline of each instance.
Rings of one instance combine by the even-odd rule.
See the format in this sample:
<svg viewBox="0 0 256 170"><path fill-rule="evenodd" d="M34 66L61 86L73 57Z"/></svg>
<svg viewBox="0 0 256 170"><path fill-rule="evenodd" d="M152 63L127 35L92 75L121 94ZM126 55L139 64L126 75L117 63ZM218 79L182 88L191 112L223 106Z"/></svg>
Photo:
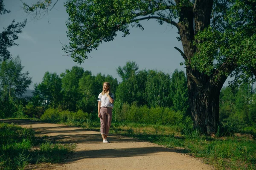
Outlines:
<svg viewBox="0 0 256 170"><path fill-rule="evenodd" d="M217 84L207 83L198 87L194 82L188 83L189 105L194 119L194 127L202 133L215 134L219 122L219 97L225 81L219 80Z"/></svg>

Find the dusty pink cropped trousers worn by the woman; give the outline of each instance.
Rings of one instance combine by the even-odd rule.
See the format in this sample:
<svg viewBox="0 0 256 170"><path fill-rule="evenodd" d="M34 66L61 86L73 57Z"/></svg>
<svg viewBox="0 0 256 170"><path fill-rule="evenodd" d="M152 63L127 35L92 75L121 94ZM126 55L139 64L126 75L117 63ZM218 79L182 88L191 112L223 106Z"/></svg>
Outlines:
<svg viewBox="0 0 256 170"><path fill-rule="evenodd" d="M101 107L100 114L100 133L108 135L112 120L112 108Z"/></svg>

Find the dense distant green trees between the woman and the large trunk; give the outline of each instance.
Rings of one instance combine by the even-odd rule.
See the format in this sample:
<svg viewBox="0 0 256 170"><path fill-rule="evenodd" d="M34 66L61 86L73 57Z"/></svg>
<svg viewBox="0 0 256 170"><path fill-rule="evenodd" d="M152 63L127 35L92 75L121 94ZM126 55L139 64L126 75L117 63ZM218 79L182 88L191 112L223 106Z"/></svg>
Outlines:
<svg viewBox="0 0 256 170"><path fill-rule="evenodd" d="M148 107L172 107L175 111L188 113L186 77L183 71L176 70L171 79L169 74L161 71L137 71L135 62L127 62L123 68L119 66L117 69L121 78L127 68L133 74L125 74L125 79L118 86L116 98L120 102L137 102L139 106Z"/></svg>

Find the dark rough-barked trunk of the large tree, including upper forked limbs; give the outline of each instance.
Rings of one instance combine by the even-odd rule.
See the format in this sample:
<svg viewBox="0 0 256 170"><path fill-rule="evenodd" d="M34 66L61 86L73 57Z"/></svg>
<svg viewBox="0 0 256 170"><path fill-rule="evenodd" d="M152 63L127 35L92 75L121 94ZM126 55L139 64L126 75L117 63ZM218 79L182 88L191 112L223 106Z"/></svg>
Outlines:
<svg viewBox="0 0 256 170"><path fill-rule="evenodd" d="M191 59L200 52L194 44L194 37L210 24L213 0L197 0L193 7L183 7L180 10L179 30L186 61L187 87L189 105L191 108L194 127L202 133L215 134L219 122L219 96L226 76L220 76L215 70L212 75L201 73L191 68ZM200 43L200 42L198 42Z"/></svg>

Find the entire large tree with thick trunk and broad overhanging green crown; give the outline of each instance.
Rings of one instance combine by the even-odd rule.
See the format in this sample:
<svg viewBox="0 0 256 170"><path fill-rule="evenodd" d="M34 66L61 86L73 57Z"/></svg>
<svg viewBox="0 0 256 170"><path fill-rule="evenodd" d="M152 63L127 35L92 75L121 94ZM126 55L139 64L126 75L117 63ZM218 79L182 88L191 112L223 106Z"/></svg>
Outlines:
<svg viewBox="0 0 256 170"><path fill-rule="evenodd" d="M194 126L203 133L214 134L220 125L219 95L227 77L256 74L256 0L67 0L65 6L70 44L63 49L80 63L118 31L125 37L130 26L143 29L141 20L175 26Z"/></svg>

